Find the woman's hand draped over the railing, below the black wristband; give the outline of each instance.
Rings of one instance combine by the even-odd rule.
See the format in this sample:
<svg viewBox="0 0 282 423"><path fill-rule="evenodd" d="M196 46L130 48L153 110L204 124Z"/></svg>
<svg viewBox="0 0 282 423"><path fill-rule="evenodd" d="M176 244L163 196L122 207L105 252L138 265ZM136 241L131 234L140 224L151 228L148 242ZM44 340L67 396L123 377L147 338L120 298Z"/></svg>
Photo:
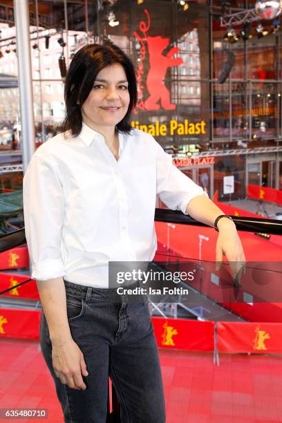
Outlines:
<svg viewBox="0 0 282 423"><path fill-rule="evenodd" d="M220 219L218 221L218 230L216 270L220 270L224 254L229 261L234 282L240 284L242 273L245 271L245 254L236 226L230 220Z"/></svg>

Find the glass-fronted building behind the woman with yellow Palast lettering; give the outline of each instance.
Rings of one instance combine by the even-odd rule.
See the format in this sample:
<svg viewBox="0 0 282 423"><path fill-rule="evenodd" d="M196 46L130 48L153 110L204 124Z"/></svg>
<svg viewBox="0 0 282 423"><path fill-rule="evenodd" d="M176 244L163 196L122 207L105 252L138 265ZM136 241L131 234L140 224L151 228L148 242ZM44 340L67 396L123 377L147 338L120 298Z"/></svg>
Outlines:
<svg viewBox="0 0 282 423"><path fill-rule="evenodd" d="M111 39L136 68L139 100L132 125L149 131L211 197L217 190L219 200L229 199L225 176L234 176L233 199L245 198L248 184L282 189L281 17L261 21L265 36L256 30L259 21L252 21L252 38L227 37L230 28L220 25L220 17L253 10L255 1L232 1L232 8L225 3L28 1L37 145L60 131L64 118L59 59L64 56L68 67L84 44ZM233 27L236 35L245 23ZM19 166L19 72L11 1L0 0L0 30L0 167ZM234 64L220 83L231 57ZM7 169L5 178L0 176L1 192L12 189L9 176L15 173Z"/></svg>

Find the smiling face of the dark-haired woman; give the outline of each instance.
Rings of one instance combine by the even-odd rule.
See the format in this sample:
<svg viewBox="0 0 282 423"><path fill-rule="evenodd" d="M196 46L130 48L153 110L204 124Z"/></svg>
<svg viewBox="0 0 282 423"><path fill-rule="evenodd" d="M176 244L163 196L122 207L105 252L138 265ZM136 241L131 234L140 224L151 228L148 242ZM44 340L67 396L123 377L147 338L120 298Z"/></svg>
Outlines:
<svg viewBox="0 0 282 423"><path fill-rule="evenodd" d="M115 126L129 108L129 83L120 64L113 64L98 73L91 92L82 104L82 120L93 129Z"/></svg>

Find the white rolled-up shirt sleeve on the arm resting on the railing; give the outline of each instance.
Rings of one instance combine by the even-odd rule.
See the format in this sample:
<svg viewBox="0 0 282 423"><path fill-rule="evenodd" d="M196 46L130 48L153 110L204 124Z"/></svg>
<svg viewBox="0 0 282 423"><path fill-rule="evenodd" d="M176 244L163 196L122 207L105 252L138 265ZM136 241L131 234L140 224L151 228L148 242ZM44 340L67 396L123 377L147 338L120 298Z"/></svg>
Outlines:
<svg viewBox="0 0 282 423"><path fill-rule="evenodd" d="M156 144L157 194L169 209L181 210L187 214L187 205L192 198L208 195L173 164L172 157L165 153L158 142Z"/></svg>

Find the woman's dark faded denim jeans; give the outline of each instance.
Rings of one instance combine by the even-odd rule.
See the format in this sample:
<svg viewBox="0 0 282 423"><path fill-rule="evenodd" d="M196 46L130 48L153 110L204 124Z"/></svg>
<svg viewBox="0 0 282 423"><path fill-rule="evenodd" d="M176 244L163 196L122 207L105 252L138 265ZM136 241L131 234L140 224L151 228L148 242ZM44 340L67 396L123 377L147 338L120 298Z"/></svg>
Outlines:
<svg viewBox="0 0 282 423"><path fill-rule="evenodd" d="M64 421L105 423L109 376L118 394L122 423L164 423L160 361L147 297L113 300L109 290L64 281L68 323L84 354L86 391L62 384L52 364L52 344L41 313L41 351L55 381Z"/></svg>

